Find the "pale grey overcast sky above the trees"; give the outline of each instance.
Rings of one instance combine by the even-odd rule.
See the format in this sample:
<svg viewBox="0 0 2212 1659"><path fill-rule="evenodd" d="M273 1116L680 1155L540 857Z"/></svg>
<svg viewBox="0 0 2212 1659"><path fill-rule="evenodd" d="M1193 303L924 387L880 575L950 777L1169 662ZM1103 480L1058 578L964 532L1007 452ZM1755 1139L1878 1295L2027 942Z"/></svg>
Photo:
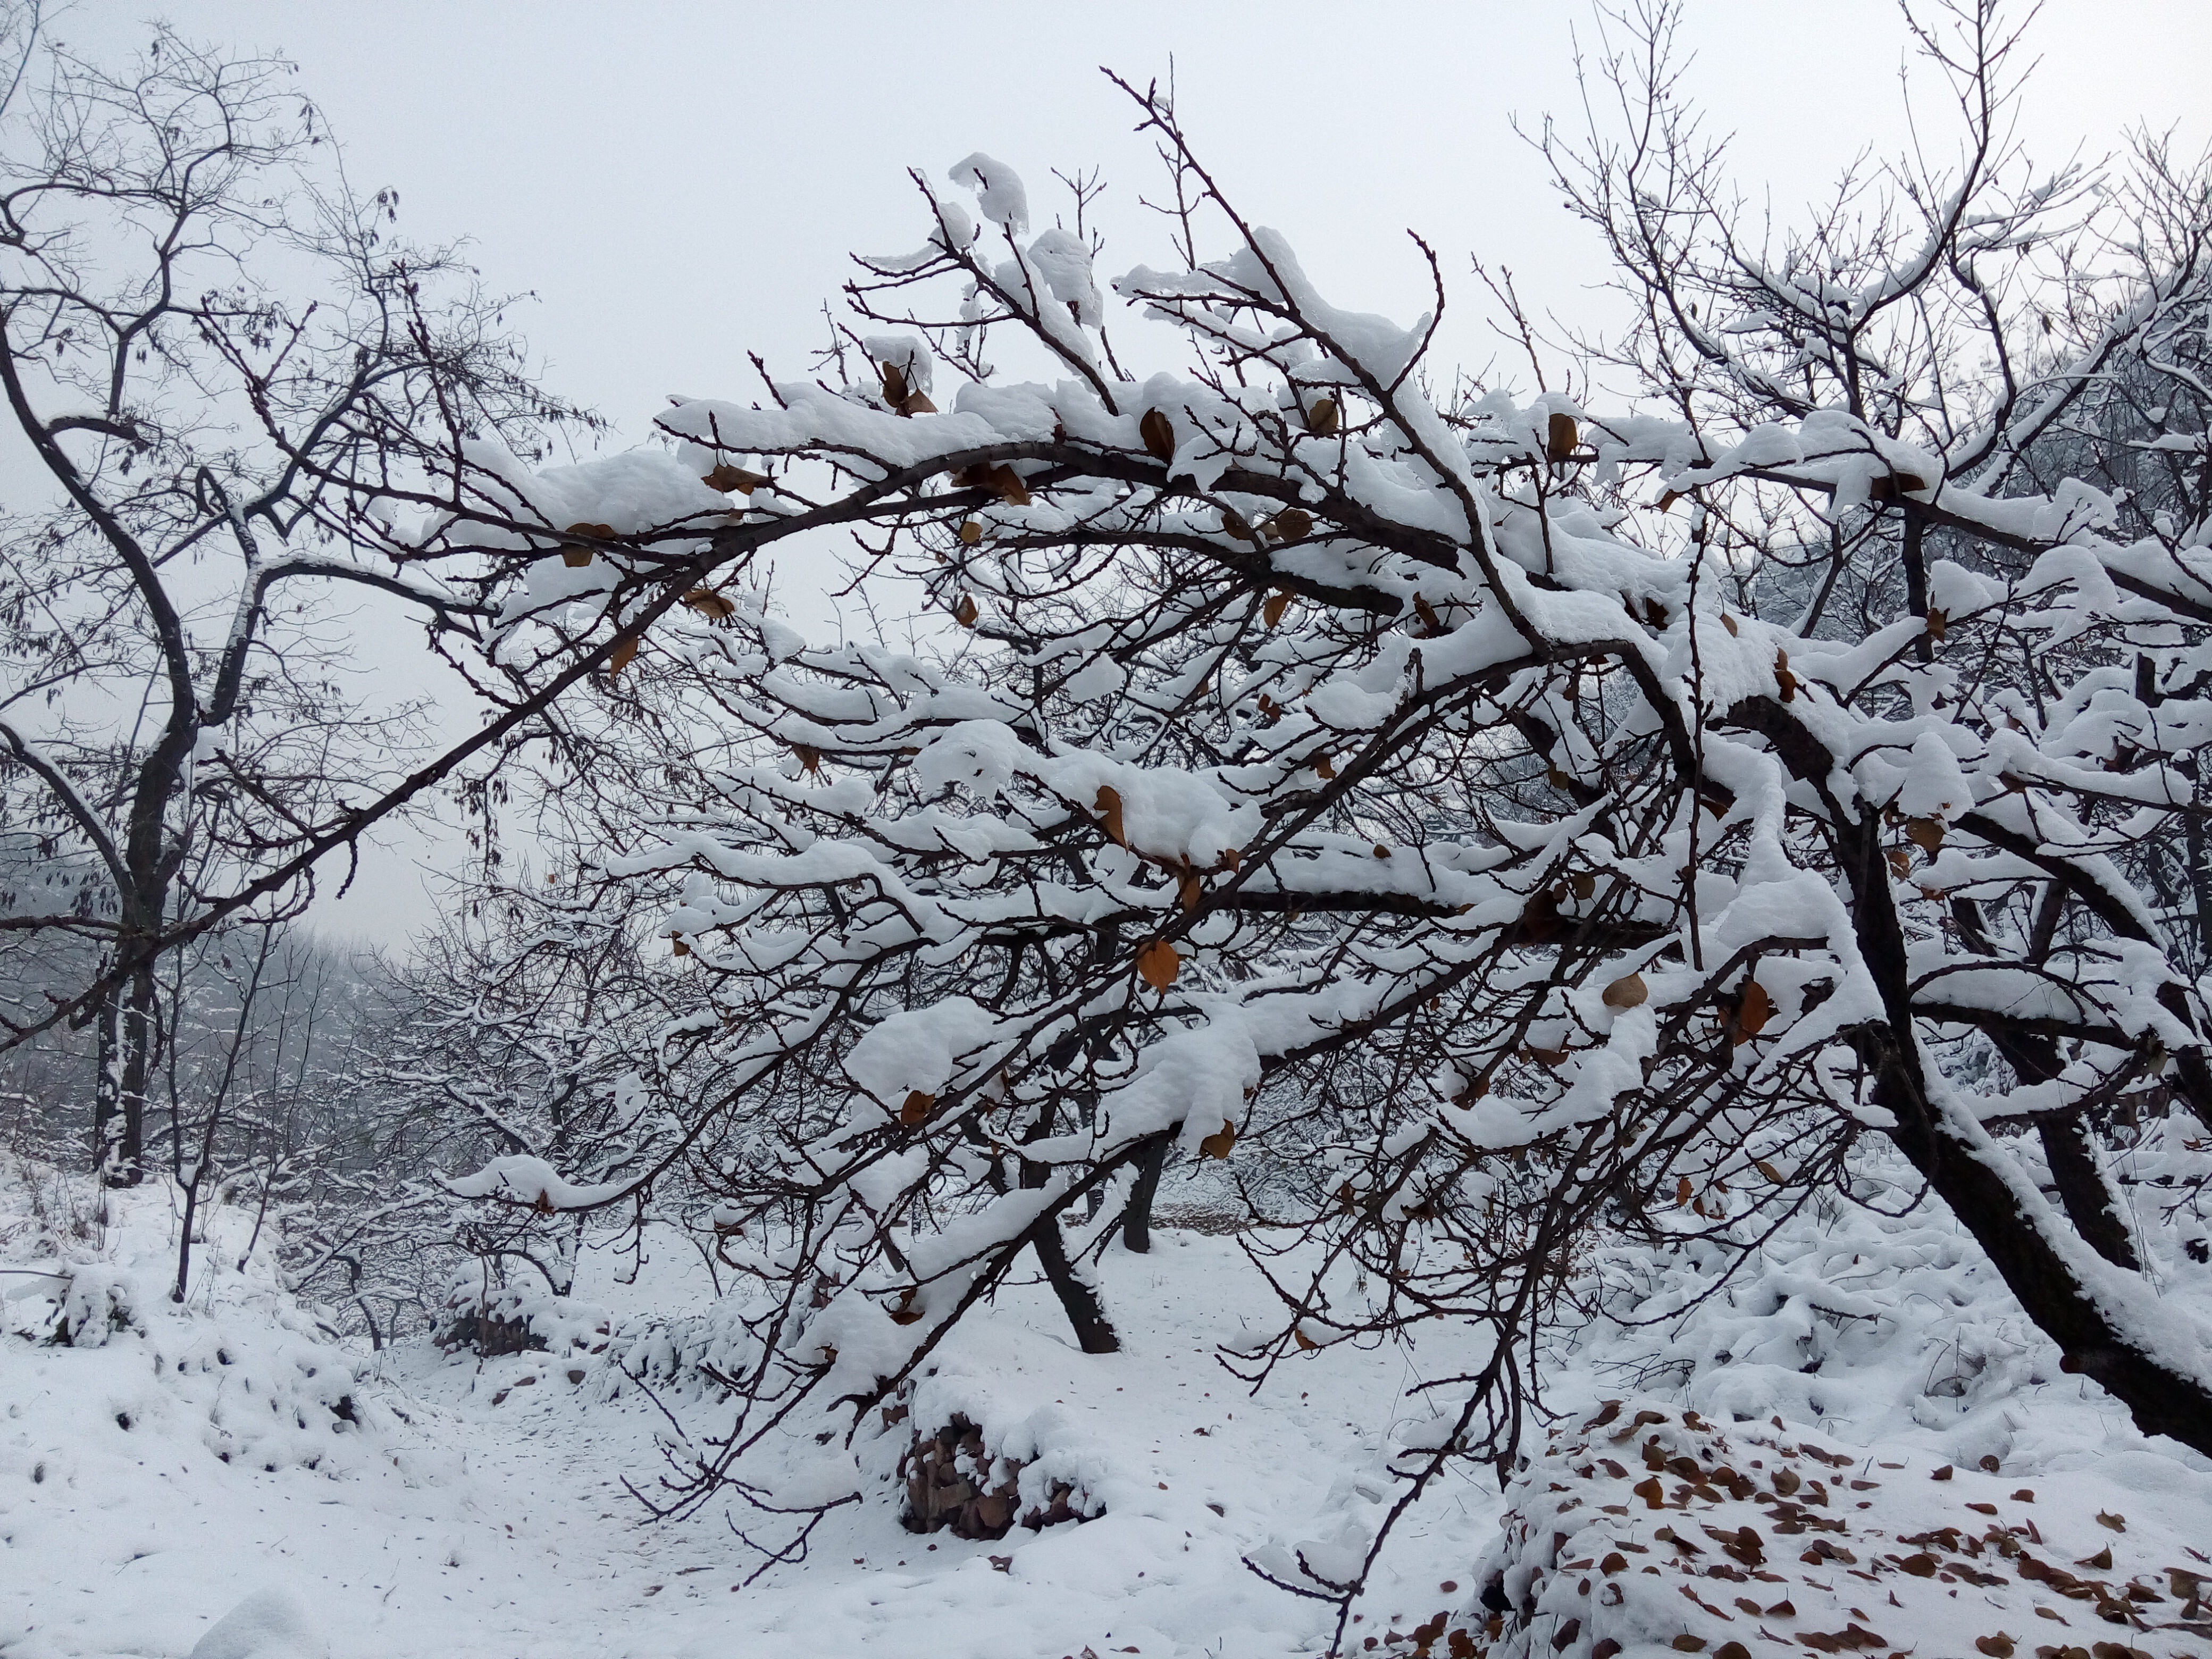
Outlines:
<svg viewBox="0 0 2212 1659"><path fill-rule="evenodd" d="M84 0L55 33L104 55L157 11ZM750 398L748 349L801 369L845 254L922 241L907 166L942 177L989 150L1044 215L1051 168L1104 166L1102 272L1159 263L1137 210L1157 166L1099 64L1144 80L1172 55L1217 177L1338 303L1422 310L1418 228L1455 279L1444 361L1493 352L1469 254L1511 265L1542 310L1604 319L1597 250L1513 135L1546 113L1579 126L1579 2L186 0L161 15L296 60L354 186L398 188L405 230L469 237L489 285L531 290L518 316L549 383L622 445L664 394ZM1911 139L1889 0L1688 0L1681 40L1710 131L1734 135L1739 179L1778 215L1856 153ZM2037 157L2097 157L2139 124L2205 144L2212 0L2048 0L2031 44ZM1920 139L1949 150L1953 131L1929 104ZM374 858L325 922L403 940L431 914L416 856Z"/></svg>

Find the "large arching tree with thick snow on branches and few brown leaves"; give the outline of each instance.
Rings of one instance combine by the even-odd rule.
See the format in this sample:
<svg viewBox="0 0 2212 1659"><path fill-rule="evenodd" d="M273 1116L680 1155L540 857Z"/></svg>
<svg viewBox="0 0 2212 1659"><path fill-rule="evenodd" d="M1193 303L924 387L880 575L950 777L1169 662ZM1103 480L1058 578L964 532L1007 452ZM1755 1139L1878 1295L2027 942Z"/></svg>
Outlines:
<svg viewBox="0 0 2212 1659"><path fill-rule="evenodd" d="M1420 243L1429 314L1325 296L1128 86L1175 263L1099 276L973 155L823 378L661 414L748 511L624 695L714 726L573 787L650 825L599 876L670 887L714 1075L659 1168L754 1276L701 1489L799 1400L887 1402L1024 1252L1110 1349L1084 1261L1146 1175L1270 1139L1325 1265L1237 1363L1486 1327L1422 1478L1515 1451L1593 1237L1741 1248L1867 1137L2212 1451L2174 1210L2101 1155L2212 1121L2205 173L2031 170L1962 4L1916 24L1960 148L1767 228L1670 29L1604 60L1619 131L1540 137L1635 305L1566 389L1440 374ZM807 644L734 582L823 529L938 628Z"/></svg>

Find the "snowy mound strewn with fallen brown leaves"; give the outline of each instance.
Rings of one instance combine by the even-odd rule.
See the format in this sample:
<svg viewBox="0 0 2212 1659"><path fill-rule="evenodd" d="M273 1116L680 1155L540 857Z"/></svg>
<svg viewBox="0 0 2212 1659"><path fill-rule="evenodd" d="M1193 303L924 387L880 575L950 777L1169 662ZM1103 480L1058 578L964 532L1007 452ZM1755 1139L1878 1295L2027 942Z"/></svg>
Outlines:
<svg viewBox="0 0 2212 1659"><path fill-rule="evenodd" d="M2117 1453L2022 1484L1929 1455L1823 1444L1778 1416L1719 1425L1615 1400L1511 1493L1460 1608L1489 1659L1615 1659L1765 1644L1814 1652L2203 1655L2212 1557L2185 1471ZM2199 1478L2194 1482L2203 1486Z"/></svg>

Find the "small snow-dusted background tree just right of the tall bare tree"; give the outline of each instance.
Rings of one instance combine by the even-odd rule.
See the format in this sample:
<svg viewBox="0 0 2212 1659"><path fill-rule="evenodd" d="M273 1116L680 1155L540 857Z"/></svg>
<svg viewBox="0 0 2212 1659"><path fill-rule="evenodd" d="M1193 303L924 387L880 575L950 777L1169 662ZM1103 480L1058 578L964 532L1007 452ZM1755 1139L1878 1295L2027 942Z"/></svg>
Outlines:
<svg viewBox="0 0 2212 1659"><path fill-rule="evenodd" d="M292 1223L299 1281L378 1338L436 1310L456 1267L478 1292L568 1296L577 1201L635 1188L681 1130L655 1046L670 975L630 931L498 889L467 911L416 940L349 1033Z"/></svg>

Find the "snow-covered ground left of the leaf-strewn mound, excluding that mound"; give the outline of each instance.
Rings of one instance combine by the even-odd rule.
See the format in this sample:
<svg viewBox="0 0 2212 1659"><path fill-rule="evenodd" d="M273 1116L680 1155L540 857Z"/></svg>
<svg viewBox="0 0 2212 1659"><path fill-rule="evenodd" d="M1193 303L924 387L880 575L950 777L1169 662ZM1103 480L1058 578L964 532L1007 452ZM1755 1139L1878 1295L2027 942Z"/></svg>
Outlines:
<svg viewBox="0 0 2212 1659"><path fill-rule="evenodd" d="M1055 1409L1066 1444L1102 1471L1102 1517L1000 1542L922 1537L876 1486L816 1531L803 1566L737 1588L761 1562L719 1506L641 1524L622 1486L664 1467L666 1418L641 1394L597 1400L588 1371L568 1380L582 1365L546 1354L345 1356L312 1336L259 1263L234 1272L217 1252L204 1252L192 1305L175 1310L161 1292L175 1272L166 1199L119 1194L117 1212L86 1254L128 1285L128 1321L144 1329L91 1349L40 1345L31 1329L53 1305L29 1296L11 1305L18 1334L0 1343L7 1659L186 1655L265 1588L292 1593L338 1659L1301 1652L1327 1630L1327 1610L1270 1588L1241 1555L1374 1506L1367 1493L1385 1491L1380 1453L1413 1378L1402 1354L1343 1352L1307 1363L1298 1387L1248 1398L1214 1345L1265 1318L1256 1279L1232 1239L1161 1230L1150 1256L1106 1263L1124 1354L1079 1354L1051 1296L1024 1287L947 1356L947 1371L973 1385L962 1398L1022 1416ZM679 1265L648 1267L648 1301L679 1305ZM212 1363L217 1349L230 1365ZM197 1369L201 1358L210 1369ZM294 1411L316 1383L307 1365L330 1380L347 1360L361 1367L345 1385L358 1422ZM296 1444L276 1469L241 1453L221 1462L223 1425L259 1427L272 1394ZM686 1413L712 1420L703 1402ZM1422 1599L1442 1577L1464 1579L1498 1506L1473 1484L1429 1506L1398 1559Z"/></svg>

